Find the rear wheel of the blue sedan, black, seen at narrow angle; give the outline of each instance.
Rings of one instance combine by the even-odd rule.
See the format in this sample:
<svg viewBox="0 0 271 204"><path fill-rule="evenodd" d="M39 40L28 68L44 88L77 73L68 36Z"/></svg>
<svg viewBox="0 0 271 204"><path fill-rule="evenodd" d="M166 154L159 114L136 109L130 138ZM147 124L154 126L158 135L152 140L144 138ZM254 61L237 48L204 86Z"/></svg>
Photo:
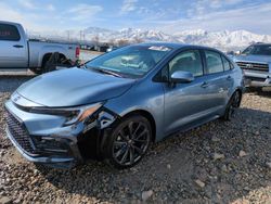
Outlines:
<svg viewBox="0 0 271 204"><path fill-rule="evenodd" d="M236 109L240 106L241 99L242 99L242 94L240 91L235 91L232 94L232 97L231 97L231 99L225 107L225 113L222 116L222 119L231 120L233 118Z"/></svg>

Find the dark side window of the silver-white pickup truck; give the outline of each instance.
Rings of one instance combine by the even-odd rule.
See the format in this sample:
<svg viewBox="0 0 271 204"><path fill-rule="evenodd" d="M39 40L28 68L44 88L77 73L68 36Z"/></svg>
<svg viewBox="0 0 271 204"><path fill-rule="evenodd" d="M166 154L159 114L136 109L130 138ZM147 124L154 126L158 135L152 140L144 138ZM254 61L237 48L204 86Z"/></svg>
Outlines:
<svg viewBox="0 0 271 204"><path fill-rule="evenodd" d="M0 24L0 40L18 41L18 30L13 25Z"/></svg>

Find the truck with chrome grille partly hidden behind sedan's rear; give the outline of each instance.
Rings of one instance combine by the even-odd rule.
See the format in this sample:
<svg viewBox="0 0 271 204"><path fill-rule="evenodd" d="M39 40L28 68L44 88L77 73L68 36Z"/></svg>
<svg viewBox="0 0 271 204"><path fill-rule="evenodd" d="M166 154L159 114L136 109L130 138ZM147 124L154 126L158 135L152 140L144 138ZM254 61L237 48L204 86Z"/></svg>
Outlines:
<svg viewBox="0 0 271 204"><path fill-rule="evenodd" d="M271 43L249 46L234 61L244 71L247 87L271 87Z"/></svg>

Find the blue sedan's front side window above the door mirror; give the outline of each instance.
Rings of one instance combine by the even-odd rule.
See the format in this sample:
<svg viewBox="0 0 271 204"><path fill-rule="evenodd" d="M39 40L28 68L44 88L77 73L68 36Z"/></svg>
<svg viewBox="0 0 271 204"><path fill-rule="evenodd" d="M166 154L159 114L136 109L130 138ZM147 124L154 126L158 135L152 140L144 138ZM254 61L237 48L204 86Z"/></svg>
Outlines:
<svg viewBox="0 0 271 204"><path fill-rule="evenodd" d="M203 63L198 50L181 52L169 62L169 75L177 71L190 72L194 77L203 75Z"/></svg>

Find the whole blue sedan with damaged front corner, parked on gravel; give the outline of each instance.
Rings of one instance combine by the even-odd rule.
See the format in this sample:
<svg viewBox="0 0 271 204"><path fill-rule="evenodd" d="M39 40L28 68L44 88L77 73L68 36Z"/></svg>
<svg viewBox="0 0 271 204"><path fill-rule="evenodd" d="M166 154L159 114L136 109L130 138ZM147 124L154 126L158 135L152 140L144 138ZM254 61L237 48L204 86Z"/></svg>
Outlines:
<svg viewBox="0 0 271 204"><path fill-rule="evenodd" d="M152 142L230 119L242 91L241 68L218 50L128 46L22 85L5 103L7 132L35 163L73 166L95 154L126 168Z"/></svg>

